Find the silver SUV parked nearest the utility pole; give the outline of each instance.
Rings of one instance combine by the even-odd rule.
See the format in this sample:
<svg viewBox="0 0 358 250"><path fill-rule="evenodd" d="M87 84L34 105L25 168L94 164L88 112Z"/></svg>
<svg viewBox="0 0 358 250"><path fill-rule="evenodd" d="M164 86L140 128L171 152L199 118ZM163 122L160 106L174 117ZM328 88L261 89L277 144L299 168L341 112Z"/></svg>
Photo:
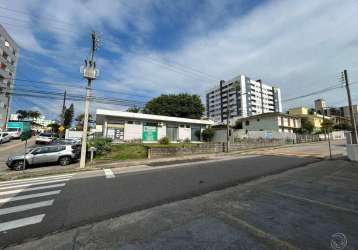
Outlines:
<svg viewBox="0 0 358 250"><path fill-rule="evenodd" d="M51 145L32 148L26 155L10 156L6 161L6 165L10 169L21 170L24 166L24 158L26 166L38 164L58 163L66 166L75 161L79 157L78 149L73 145Z"/></svg>

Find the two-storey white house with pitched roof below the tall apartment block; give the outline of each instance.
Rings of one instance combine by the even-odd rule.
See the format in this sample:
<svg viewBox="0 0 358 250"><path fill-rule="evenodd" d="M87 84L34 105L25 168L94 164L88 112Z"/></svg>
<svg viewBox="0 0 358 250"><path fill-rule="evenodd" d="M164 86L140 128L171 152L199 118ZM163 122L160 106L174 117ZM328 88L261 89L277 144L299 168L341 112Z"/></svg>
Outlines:
<svg viewBox="0 0 358 250"><path fill-rule="evenodd" d="M247 131L275 131L293 133L301 128L301 119L279 112L264 113L246 118L240 118L236 124Z"/></svg>

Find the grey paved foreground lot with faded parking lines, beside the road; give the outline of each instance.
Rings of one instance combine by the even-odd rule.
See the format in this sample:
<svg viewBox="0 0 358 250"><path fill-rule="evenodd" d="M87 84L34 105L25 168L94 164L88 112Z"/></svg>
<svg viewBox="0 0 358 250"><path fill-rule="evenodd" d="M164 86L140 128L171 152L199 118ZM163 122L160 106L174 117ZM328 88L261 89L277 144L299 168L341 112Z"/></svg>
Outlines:
<svg viewBox="0 0 358 250"><path fill-rule="evenodd" d="M357 163L320 161L8 249L357 249L357 193Z"/></svg>

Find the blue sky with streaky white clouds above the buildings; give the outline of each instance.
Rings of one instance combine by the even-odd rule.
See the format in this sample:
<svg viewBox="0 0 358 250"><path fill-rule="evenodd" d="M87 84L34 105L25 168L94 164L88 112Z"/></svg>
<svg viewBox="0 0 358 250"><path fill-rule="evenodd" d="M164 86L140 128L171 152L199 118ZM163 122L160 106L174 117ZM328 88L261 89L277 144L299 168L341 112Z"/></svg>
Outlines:
<svg viewBox="0 0 358 250"><path fill-rule="evenodd" d="M204 98L219 80L240 74L280 87L283 100L339 84L344 69L358 83L357 0L3 0L0 23L21 50L16 78L48 82L17 80L15 91L83 95L80 66L92 31L100 39L94 95L138 106L160 94ZM351 91L358 103L358 84ZM312 106L317 98L347 103L339 88L283 107ZM74 105L83 111L83 102ZM96 108L127 107L92 103L91 112ZM11 109L56 119L62 101L14 96Z"/></svg>

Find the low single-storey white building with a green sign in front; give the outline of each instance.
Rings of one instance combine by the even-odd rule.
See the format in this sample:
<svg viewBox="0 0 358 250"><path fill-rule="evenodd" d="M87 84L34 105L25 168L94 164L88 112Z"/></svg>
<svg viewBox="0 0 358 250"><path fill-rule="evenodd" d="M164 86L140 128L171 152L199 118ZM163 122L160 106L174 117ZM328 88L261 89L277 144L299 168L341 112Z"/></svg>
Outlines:
<svg viewBox="0 0 358 250"><path fill-rule="evenodd" d="M213 121L97 109L96 132L116 142L200 141L198 132Z"/></svg>

